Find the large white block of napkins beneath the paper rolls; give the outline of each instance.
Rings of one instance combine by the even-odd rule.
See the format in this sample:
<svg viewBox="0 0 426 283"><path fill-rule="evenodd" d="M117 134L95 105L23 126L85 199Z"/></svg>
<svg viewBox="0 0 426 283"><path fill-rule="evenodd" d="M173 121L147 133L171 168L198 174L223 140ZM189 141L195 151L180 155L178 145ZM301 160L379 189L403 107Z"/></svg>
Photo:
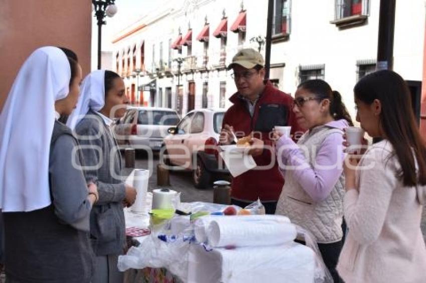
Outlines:
<svg viewBox="0 0 426 283"><path fill-rule="evenodd" d="M189 283L312 283L315 255L309 247L289 242L282 245L215 248L191 245Z"/></svg>

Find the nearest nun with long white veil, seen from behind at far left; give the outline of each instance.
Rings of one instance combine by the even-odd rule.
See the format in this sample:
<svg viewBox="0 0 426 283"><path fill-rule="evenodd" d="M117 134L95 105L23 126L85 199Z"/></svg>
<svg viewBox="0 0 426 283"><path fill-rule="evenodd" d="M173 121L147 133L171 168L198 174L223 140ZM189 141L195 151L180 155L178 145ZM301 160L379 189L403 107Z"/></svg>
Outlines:
<svg viewBox="0 0 426 283"><path fill-rule="evenodd" d="M90 282L89 215L77 140L57 121L79 95L81 67L52 46L22 65L0 114L0 208L8 282ZM74 165L73 165L74 164Z"/></svg>

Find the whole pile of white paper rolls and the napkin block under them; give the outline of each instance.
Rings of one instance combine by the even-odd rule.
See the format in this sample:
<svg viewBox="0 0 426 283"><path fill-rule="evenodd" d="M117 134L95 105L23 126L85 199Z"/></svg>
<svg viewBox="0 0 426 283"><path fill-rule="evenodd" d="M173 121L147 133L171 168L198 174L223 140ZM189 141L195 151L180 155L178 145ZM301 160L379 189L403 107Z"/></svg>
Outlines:
<svg viewBox="0 0 426 283"><path fill-rule="evenodd" d="M199 221L195 237L206 244L190 245L188 282L313 282L315 253L294 242L296 226L288 217L204 216Z"/></svg>

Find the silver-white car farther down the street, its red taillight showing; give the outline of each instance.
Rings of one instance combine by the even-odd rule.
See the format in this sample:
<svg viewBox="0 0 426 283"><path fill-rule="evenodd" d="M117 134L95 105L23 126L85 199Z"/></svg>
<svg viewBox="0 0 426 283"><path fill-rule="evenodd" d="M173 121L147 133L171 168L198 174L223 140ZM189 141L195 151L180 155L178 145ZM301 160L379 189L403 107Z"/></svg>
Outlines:
<svg viewBox="0 0 426 283"><path fill-rule="evenodd" d="M160 150L167 129L179 122L179 115L170 108L129 107L112 126L120 147Z"/></svg>

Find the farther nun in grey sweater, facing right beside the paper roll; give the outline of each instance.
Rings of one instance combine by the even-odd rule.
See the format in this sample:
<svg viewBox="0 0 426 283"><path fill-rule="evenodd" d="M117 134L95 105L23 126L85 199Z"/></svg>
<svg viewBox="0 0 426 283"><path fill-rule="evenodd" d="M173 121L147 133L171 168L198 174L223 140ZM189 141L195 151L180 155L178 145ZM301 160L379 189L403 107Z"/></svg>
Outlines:
<svg viewBox="0 0 426 283"><path fill-rule="evenodd" d="M84 146L86 180L97 183L99 190L90 215L96 253L93 283L123 281L117 267L118 255L123 254L126 244L123 204L133 204L136 190L120 178L120 151L109 126L111 117L124 115L127 103L121 77L112 71L95 70L85 77L82 95L67 121Z"/></svg>

